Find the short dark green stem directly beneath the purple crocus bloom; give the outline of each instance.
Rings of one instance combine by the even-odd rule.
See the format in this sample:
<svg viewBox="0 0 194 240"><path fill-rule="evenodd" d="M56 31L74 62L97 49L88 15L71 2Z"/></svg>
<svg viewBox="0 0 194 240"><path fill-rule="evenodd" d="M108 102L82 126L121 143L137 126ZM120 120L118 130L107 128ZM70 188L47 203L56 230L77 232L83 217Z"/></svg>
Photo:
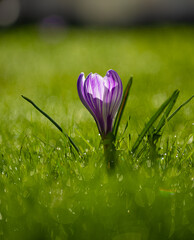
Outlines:
<svg viewBox="0 0 194 240"><path fill-rule="evenodd" d="M107 134L103 139L104 157L107 169L114 169L117 164L117 154L114 141L115 137L112 133Z"/></svg>

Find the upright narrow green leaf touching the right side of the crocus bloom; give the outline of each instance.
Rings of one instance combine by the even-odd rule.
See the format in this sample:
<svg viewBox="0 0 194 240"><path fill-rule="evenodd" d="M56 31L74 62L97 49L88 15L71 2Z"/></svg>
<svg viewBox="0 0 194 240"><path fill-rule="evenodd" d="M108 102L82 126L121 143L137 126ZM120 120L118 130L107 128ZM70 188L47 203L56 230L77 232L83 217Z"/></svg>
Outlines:
<svg viewBox="0 0 194 240"><path fill-rule="evenodd" d="M130 77L130 79L127 83L127 86L125 88L124 94L123 94L123 99L122 99L121 105L119 107L119 110L117 112L117 115L116 115L116 118L115 118L115 121L114 121L113 135L114 135L115 138L116 138L118 127L119 127L119 124L120 124L120 121L121 121L121 118L122 118L122 115L123 115L123 112L124 112L124 109L125 109L125 105L127 103L127 99L128 99L128 96L129 96L129 91L130 91L132 82L133 82L133 77Z"/></svg>

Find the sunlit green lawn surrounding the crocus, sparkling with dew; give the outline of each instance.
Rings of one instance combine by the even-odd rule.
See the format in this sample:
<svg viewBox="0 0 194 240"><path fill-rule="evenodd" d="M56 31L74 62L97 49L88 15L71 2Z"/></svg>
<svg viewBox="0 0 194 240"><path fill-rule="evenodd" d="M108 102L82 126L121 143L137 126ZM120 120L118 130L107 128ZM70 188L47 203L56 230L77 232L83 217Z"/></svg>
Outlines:
<svg viewBox="0 0 194 240"><path fill-rule="evenodd" d="M193 27L0 32L0 239L154 240L194 237L193 101L144 138L159 106L193 95ZM118 166L106 171L100 136L78 98L80 72L114 69L133 85L118 131ZM21 95L53 117L84 152ZM131 119L124 135L129 116Z"/></svg>

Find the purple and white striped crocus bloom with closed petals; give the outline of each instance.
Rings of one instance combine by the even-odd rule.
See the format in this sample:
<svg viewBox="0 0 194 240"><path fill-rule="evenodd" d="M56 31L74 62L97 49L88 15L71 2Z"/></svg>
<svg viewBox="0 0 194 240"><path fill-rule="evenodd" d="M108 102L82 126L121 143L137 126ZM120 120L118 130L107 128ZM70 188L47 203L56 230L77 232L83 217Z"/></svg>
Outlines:
<svg viewBox="0 0 194 240"><path fill-rule="evenodd" d="M123 86L117 72L109 70L105 77L84 73L77 81L79 97L94 117L101 137L104 139L112 132L113 120L121 104Z"/></svg>

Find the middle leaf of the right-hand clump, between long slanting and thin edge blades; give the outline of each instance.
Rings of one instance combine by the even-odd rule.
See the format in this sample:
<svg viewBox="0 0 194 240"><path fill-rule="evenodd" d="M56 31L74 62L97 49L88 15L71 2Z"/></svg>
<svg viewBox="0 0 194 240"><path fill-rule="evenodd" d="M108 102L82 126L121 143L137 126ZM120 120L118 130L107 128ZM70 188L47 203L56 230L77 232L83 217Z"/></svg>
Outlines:
<svg viewBox="0 0 194 240"><path fill-rule="evenodd" d="M170 103L168 104L166 111L164 112L163 116L161 117L156 129L154 130L154 134L158 134L162 127L165 125L165 123L168 121L168 116L174 107L174 104L176 103L176 100L179 96L179 91L177 90L175 94L173 94Z"/></svg>

